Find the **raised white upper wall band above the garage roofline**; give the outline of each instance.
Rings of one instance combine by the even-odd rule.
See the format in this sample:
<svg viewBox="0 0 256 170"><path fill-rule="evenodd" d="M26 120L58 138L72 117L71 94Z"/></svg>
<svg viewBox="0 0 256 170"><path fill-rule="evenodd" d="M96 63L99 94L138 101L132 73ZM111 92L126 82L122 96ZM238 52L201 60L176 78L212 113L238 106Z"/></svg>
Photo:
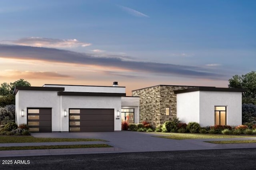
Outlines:
<svg viewBox="0 0 256 170"><path fill-rule="evenodd" d="M125 87L78 86L78 85L44 85L43 87L64 87L69 92L125 93Z"/></svg>

